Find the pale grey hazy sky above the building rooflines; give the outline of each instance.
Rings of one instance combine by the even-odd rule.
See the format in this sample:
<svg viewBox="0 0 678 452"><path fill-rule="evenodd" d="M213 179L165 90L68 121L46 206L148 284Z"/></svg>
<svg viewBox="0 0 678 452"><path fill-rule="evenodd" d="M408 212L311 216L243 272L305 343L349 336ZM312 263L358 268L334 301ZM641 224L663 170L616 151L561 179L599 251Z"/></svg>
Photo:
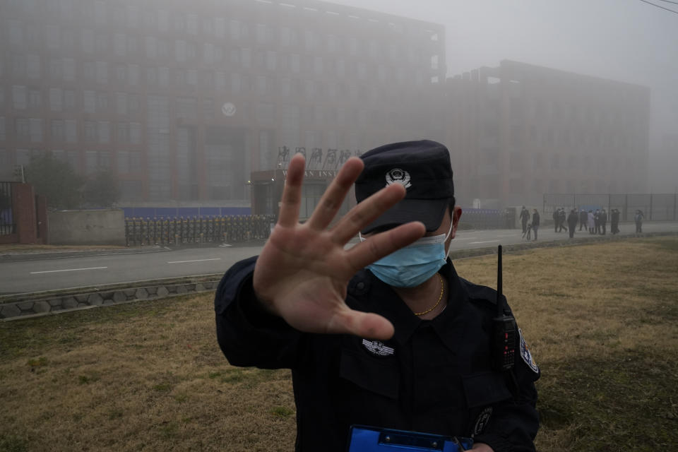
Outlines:
<svg viewBox="0 0 678 452"><path fill-rule="evenodd" d="M648 1L678 12L678 4ZM655 136L678 131L678 13L640 0L332 3L445 25L448 75L512 59L649 86Z"/></svg>

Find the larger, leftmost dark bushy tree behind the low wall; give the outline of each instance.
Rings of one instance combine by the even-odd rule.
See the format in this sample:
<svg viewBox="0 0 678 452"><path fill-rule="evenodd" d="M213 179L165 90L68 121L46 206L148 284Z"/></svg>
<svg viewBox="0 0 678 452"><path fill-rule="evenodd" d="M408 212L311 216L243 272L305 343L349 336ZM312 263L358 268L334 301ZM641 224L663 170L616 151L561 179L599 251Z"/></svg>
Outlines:
<svg viewBox="0 0 678 452"><path fill-rule="evenodd" d="M53 209L72 209L80 206L83 177L76 174L69 162L55 159L51 154L35 157L25 169L26 182L35 194L47 196L47 206Z"/></svg>

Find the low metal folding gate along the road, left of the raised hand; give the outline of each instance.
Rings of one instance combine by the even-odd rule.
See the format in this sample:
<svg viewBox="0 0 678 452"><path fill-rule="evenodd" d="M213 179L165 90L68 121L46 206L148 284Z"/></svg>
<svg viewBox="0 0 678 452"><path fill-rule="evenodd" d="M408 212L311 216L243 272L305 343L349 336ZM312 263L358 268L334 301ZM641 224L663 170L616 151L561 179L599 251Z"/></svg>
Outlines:
<svg viewBox="0 0 678 452"><path fill-rule="evenodd" d="M268 239L273 215L125 218L127 246L235 243Z"/></svg>

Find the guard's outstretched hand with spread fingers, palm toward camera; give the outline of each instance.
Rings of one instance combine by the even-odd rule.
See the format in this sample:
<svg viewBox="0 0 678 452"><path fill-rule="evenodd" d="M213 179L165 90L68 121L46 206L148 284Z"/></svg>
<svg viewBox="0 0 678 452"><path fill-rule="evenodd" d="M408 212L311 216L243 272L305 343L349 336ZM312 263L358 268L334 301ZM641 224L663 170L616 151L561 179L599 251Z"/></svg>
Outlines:
<svg viewBox="0 0 678 452"><path fill-rule="evenodd" d="M407 223L345 249L359 230L405 197L405 188L392 184L381 189L328 229L362 172L362 160L352 157L328 186L311 218L299 224L304 165L304 157L297 154L287 169L278 223L254 268L257 298L299 331L391 338L391 322L377 314L347 307L346 287L364 266L422 237L426 232L424 225Z"/></svg>

